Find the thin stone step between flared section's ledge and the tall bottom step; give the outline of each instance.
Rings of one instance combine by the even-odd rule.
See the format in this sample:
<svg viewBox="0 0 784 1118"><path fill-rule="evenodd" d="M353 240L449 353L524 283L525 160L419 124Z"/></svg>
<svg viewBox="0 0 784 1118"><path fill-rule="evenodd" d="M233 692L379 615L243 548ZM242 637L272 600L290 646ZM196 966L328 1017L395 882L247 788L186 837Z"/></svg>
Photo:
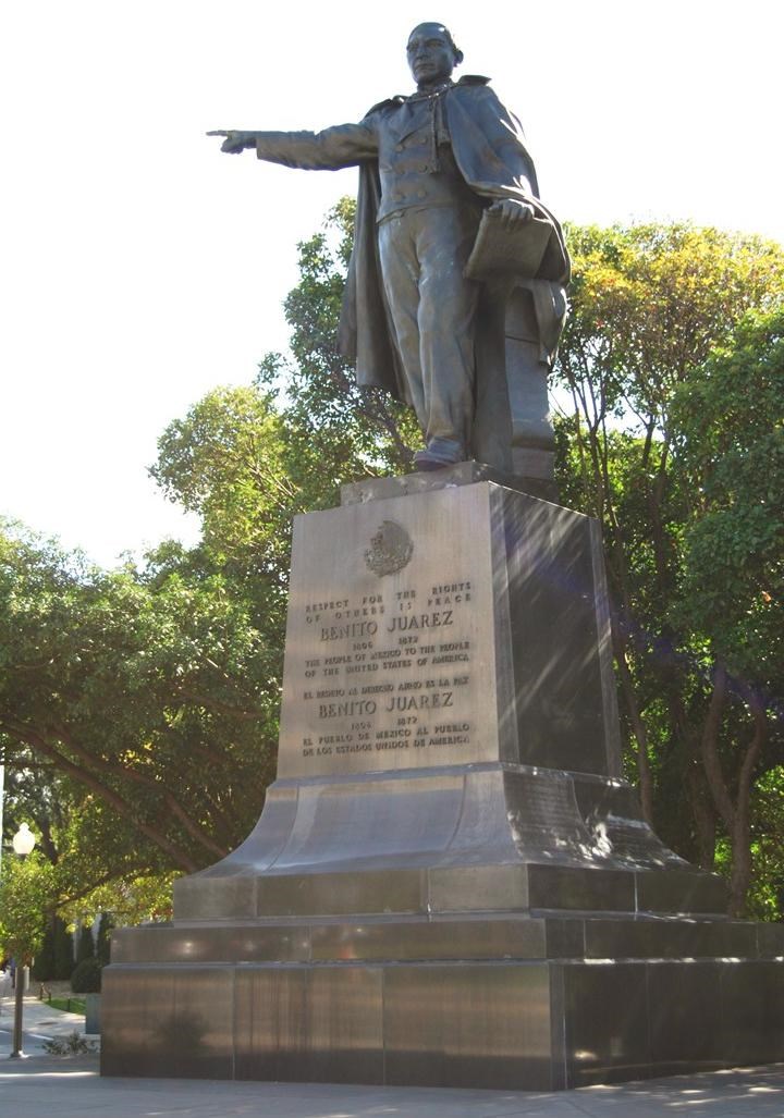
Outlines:
<svg viewBox="0 0 784 1118"><path fill-rule="evenodd" d="M520 918L514 913L387 916L361 920L318 917L227 926L150 925L119 928L114 964L329 963L471 959L749 959L784 955L784 927L775 926L775 949L759 945L756 926L740 920L677 917L636 919L560 915ZM729 973L729 972L728 972Z"/></svg>

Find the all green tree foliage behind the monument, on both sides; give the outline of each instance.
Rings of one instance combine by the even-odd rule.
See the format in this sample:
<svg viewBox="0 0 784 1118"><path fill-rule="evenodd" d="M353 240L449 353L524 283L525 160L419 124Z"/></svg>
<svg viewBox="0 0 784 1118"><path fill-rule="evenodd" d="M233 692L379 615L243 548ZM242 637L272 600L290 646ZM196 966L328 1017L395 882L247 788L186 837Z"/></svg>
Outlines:
<svg viewBox="0 0 784 1118"><path fill-rule="evenodd" d="M413 415L358 389L336 347L352 207L300 246L291 358L160 439L151 473L201 518L198 547L104 571L0 529L9 825L38 828L69 920L166 918L173 875L249 831L274 771L292 519L410 470ZM569 247L557 477L604 530L626 771L665 841L718 858L736 904L745 850L749 903L781 913L784 252L689 225L573 227Z"/></svg>

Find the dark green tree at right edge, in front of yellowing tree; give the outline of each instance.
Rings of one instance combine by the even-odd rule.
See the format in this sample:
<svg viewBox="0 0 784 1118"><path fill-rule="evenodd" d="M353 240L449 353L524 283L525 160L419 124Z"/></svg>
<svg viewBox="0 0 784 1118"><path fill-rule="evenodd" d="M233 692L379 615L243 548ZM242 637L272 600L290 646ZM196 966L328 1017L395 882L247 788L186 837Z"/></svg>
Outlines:
<svg viewBox="0 0 784 1118"><path fill-rule="evenodd" d="M746 316L672 411L688 502L673 616L699 639L709 681L701 756L730 840L735 911L752 878L754 780L784 747L782 417L784 309Z"/></svg>

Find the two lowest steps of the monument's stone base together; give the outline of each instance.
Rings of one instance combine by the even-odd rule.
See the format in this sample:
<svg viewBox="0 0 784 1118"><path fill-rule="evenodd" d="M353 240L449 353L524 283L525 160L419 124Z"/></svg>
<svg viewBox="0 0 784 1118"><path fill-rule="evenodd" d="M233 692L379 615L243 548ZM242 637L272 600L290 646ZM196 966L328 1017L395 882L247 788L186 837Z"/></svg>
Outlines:
<svg viewBox="0 0 784 1118"><path fill-rule="evenodd" d="M727 920L125 929L102 1071L557 1090L778 1061L782 951Z"/></svg>

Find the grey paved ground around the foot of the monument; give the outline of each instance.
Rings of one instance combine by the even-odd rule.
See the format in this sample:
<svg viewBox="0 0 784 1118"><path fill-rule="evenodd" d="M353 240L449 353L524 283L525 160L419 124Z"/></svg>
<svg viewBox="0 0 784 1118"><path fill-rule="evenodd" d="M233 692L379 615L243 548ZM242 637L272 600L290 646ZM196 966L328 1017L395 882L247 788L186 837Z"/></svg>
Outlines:
<svg viewBox="0 0 784 1118"><path fill-rule="evenodd" d="M578 1091L464 1091L192 1079L101 1079L96 1055L47 1055L84 1018L26 998L27 1060L7 1060L13 1006L0 1003L0 1114L8 1118L783 1118L784 1065ZM28 1031L29 1029L29 1031Z"/></svg>

